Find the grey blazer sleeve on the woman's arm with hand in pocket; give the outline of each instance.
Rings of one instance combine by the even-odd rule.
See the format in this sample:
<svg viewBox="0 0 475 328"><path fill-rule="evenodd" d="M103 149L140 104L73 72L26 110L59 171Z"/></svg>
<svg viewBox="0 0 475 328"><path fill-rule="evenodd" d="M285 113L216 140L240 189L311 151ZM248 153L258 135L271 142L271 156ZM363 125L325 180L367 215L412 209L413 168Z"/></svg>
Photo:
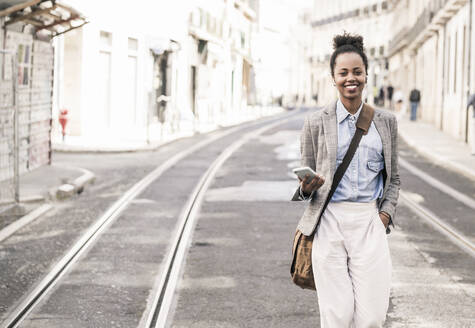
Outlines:
<svg viewBox="0 0 475 328"><path fill-rule="evenodd" d="M384 211L391 216L391 221L396 214L396 204L399 198L399 189L401 180L399 179L399 167L398 167L398 132L397 132L397 120L396 117L392 117L390 122L391 127L391 176L388 177L389 185L386 191L386 196L381 204L380 211Z"/></svg>

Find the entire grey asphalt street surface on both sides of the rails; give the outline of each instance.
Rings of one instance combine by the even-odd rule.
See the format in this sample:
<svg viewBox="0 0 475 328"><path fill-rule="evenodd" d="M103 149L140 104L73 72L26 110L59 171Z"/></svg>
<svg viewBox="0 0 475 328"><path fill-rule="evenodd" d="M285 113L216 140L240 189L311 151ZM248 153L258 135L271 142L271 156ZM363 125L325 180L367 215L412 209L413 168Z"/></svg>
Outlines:
<svg viewBox="0 0 475 328"><path fill-rule="evenodd" d="M294 286L289 277L293 233L306 205L289 201L302 122L288 120L246 143L218 172L194 230L170 327L319 327L316 294ZM238 135L185 158L152 183L21 327L136 327L143 322L188 194ZM80 163L93 171L96 183L0 244L0 320L126 190L207 137L155 152L55 154L55 162ZM413 165L474 197L473 181L427 162L406 145L400 150ZM401 180L403 190L420 204L472 238L473 210L404 169ZM389 236L393 283L385 327L470 327L473 257L403 204L395 222Z"/></svg>

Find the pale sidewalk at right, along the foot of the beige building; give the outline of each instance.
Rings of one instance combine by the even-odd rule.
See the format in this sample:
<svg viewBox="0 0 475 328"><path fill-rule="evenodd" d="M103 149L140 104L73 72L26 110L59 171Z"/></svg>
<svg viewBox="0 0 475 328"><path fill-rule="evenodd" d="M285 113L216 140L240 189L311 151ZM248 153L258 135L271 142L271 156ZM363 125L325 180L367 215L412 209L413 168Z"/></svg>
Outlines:
<svg viewBox="0 0 475 328"><path fill-rule="evenodd" d="M435 126L407 117L398 118L399 136L434 163L475 181L475 155L468 144L455 140Z"/></svg>

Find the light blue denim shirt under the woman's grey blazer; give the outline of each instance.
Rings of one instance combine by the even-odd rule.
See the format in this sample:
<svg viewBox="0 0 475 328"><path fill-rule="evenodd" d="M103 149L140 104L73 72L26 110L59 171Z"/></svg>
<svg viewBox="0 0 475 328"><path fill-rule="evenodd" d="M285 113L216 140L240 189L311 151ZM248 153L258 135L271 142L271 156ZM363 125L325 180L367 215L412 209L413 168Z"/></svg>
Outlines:
<svg viewBox="0 0 475 328"><path fill-rule="evenodd" d="M336 105L338 126L338 150L336 165L341 164L343 157L350 146L351 139L356 131L358 119L363 103L355 115L351 115L343 106L340 99ZM331 202L370 202L383 195L384 169L383 143L376 130L374 122L368 134L361 138L358 149L348 166L345 175L335 190Z"/></svg>

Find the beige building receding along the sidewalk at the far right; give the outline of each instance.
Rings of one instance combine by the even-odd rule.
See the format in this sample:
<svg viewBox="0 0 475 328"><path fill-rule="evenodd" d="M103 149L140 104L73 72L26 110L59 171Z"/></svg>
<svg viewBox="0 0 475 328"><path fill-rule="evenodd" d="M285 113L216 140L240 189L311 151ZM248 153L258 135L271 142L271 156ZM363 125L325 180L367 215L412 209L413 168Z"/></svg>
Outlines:
<svg viewBox="0 0 475 328"><path fill-rule="evenodd" d="M469 0L391 2L389 77L409 95L421 91L418 119L471 143L474 92L473 10Z"/></svg>

